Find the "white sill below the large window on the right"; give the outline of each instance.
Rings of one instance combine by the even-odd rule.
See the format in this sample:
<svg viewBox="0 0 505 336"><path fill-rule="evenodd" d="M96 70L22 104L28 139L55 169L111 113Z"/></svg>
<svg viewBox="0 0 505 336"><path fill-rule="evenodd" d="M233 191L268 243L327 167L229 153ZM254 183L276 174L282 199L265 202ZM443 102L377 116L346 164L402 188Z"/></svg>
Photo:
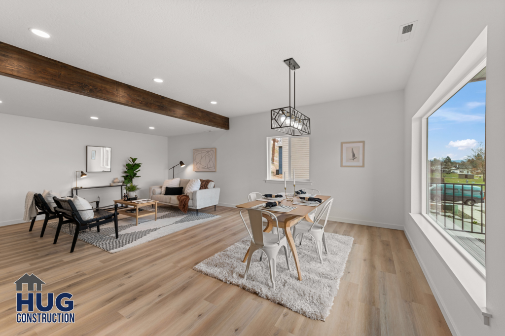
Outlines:
<svg viewBox="0 0 505 336"><path fill-rule="evenodd" d="M413 213L410 216L475 312L480 316L487 313L485 268L477 261L474 263L473 257L428 216ZM423 269L426 268L423 266Z"/></svg>

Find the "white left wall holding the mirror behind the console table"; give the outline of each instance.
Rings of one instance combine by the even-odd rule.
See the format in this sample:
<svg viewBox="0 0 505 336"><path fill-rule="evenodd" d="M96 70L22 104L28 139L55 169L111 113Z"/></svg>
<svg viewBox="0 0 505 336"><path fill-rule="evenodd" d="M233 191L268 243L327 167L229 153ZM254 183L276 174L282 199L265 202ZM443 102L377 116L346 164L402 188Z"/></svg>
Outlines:
<svg viewBox="0 0 505 336"><path fill-rule="evenodd" d="M147 197L149 186L168 176L167 137L0 114L0 226L22 223L28 191L53 190L70 195L75 171L86 172L86 146L112 148L112 171L87 173L79 186L107 185L122 180L129 157L142 163L138 179ZM88 201L100 196L100 205L120 199L119 187L79 191ZM41 216L43 217L43 216Z"/></svg>

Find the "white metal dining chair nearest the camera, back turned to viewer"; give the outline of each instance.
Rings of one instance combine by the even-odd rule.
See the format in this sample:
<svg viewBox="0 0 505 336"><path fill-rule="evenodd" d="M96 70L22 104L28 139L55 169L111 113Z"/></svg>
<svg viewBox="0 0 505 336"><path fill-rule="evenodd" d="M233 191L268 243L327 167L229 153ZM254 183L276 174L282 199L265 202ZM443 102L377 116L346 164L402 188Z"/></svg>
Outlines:
<svg viewBox="0 0 505 336"><path fill-rule="evenodd" d="M247 227L242 212L247 211L249 214L249 223L251 226L251 231ZM277 234L270 232L263 232L263 214L268 214L275 220L275 225L277 226ZM268 261L268 268L270 270L270 280L273 284L273 289L275 291L275 273L276 273L276 258L281 247L284 247L284 254L286 255L287 268L291 270L289 266L289 258L287 255L287 239L286 236L280 236L279 234L279 223L277 222L277 217L270 211L259 210L259 209L242 209L240 210L240 217L244 223L247 233L251 237L251 243L249 247L249 256L247 257L247 265L245 266L244 280L247 277L247 272L249 271L249 266L251 264L252 255L255 251L260 250L265 253Z"/></svg>

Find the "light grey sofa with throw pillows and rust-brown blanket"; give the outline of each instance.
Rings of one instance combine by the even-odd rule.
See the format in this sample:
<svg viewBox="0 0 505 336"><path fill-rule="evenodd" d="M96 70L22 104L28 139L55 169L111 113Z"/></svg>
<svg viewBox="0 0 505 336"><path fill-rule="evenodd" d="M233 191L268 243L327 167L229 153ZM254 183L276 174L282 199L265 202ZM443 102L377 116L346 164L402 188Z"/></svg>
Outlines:
<svg viewBox="0 0 505 336"><path fill-rule="evenodd" d="M182 194L184 194L188 183L188 179L180 179L179 186L183 187ZM151 200L158 201L161 204L178 206L179 201L177 200L177 195L161 195L162 186L163 185L155 185L149 187L149 198ZM214 210L216 210L216 205L219 203L220 190L220 188L214 187L214 182L210 182L208 189L193 191L193 193L189 195L188 208L196 210L196 214L198 214L198 209L207 207L214 206Z"/></svg>

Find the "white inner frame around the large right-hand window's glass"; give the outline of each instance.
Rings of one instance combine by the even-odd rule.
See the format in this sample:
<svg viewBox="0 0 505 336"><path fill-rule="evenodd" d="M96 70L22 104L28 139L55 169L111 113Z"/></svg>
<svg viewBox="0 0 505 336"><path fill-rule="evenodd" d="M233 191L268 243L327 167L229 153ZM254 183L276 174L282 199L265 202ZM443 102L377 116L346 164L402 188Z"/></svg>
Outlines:
<svg viewBox="0 0 505 336"><path fill-rule="evenodd" d="M421 214L422 216L436 228L436 230L473 266L484 278L486 276L486 268L482 266L475 258L461 246L454 238L452 238L445 230L440 227L428 213L428 118L435 113L443 104L452 98L459 90L463 88L470 80L475 77L482 69L487 66L487 58L478 62L472 67L472 70L461 79L457 85L453 86L442 99L440 99L424 116L421 117ZM486 230L487 231L487 230Z"/></svg>

